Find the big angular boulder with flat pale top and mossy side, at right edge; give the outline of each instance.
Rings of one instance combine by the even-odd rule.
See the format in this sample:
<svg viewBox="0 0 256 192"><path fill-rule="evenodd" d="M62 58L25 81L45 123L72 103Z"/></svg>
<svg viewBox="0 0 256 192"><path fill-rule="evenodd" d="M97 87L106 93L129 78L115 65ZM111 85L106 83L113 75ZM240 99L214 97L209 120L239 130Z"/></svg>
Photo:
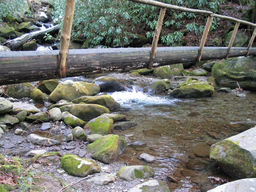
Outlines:
<svg viewBox="0 0 256 192"><path fill-rule="evenodd" d="M256 177L256 127L211 146L210 158L236 179Z"/></svg>

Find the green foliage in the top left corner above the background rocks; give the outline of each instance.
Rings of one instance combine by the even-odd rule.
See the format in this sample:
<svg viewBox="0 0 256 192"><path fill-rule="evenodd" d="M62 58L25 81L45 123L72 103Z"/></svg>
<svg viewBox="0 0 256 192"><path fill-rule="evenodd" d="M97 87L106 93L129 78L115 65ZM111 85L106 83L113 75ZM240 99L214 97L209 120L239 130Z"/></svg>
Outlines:
<svg viewBox="0 0 256 192"><path fill-rule="evenodd" d="M4 18L29 13L28 6L24 0L0 0L0 22Z"/></svg>

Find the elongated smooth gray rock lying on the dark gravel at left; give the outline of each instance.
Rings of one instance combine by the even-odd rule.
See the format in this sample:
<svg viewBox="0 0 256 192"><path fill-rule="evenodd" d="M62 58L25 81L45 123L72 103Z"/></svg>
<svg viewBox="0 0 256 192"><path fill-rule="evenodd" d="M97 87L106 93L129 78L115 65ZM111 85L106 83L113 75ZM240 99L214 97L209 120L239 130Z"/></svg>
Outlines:
<svg viewBox="0 0 256 192"><path fill-rule="evenodd" d="M36 134L29 134L27 140L34 145L41 145L41 146L52 146L52 145L59 145L60 141L53 140L45 137L41 137Z"/></svg>

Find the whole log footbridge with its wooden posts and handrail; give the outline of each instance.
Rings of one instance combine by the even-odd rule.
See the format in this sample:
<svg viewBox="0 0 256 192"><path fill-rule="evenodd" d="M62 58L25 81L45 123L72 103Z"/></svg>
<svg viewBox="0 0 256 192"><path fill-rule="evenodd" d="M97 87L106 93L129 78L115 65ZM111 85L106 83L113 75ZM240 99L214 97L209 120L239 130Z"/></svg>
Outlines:
<svg viewBox="0 0 256 192"><path fill-rule="evenodd" d="M256 24L254 23L209 11L188 9L153 0L128 1L161 8L151 48L68 50L75 0L67 0L66 10L68 11L65 11L63 22L63 28L66 30L62 30L60 50L0 52L0 85L83 76L88 73L123 72L140 68L151 69L152 67L177 63L256 55L256 48L252 48L256 35ZM157 47L166 9L208 15L199 47ZM213 17L236 22L228 47L204 47ZM240 23L253 27L254 31L247 47L232 47ZM13 40L9 41L9 45L11 41ZM5 44L8 46L8 42Z"/></svg>

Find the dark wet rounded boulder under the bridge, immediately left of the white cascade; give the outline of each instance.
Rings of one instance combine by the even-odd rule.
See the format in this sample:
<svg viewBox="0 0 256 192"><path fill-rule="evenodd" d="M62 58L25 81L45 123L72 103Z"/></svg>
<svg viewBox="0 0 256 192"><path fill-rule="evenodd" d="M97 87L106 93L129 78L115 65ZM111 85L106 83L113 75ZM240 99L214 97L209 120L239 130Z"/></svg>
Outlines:
<svg viewBox="0 0 256 192"><path fill-rule="evenodd" d="M119 83L115 78L102 76L93 80L93 84L100 86L100 92L125 91L124 85Z"/></svg>

